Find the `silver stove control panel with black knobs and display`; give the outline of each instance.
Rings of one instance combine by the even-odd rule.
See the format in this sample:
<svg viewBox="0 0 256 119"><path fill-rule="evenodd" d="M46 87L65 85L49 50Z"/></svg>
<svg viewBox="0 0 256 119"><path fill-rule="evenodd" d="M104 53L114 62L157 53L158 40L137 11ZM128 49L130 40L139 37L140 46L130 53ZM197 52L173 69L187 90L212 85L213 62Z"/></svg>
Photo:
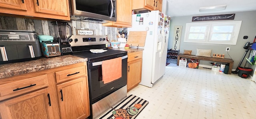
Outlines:
<svg viewBox="0 0 256 119"><path fill-rule="evenodd" d="M68 41L72 47L107 43L105 35L72 35Z"/></svg>

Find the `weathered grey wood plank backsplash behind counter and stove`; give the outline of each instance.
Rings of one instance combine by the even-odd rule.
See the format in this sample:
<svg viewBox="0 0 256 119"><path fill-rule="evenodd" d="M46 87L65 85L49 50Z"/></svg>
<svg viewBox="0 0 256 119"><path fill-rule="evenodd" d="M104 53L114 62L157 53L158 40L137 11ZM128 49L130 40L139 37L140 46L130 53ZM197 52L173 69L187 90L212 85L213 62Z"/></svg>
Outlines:
<svg viewBox="0 0 256 119"><path fill-rule="evenodd" d="M106 27L102 23L88 21L66 21L72 27L72 35L76 34L76 29L93 30L94 35L108 35L108 39L117 39L117 31L127 28ZM28 18L16 18L10 16L0 16L0 29L35 31L38 35L51 35L54 37L54 30L51 21L36 20Z"/></svg>

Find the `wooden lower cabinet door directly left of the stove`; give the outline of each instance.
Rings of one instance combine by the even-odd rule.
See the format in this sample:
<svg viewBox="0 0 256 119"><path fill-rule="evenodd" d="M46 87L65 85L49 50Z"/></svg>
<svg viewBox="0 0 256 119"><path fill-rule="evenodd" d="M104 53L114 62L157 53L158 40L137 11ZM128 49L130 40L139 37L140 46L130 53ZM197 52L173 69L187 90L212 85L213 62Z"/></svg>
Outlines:
<svg viewBox="0 0 256 119"><path fill-rule="evenodd" d="M57 85L61 119L85 119L90 115L86 77Z"/></svg>

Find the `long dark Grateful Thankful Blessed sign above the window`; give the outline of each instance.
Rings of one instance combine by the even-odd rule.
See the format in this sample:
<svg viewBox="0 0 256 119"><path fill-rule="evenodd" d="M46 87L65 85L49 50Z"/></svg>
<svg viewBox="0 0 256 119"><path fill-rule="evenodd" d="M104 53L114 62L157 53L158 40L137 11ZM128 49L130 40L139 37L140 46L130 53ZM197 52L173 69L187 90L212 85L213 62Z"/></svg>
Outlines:
<svg viewBox="0 0 256 119"><path fill-rule="evenodd" d="M192 17L192 21L234 20L235 14Z"/></svg>

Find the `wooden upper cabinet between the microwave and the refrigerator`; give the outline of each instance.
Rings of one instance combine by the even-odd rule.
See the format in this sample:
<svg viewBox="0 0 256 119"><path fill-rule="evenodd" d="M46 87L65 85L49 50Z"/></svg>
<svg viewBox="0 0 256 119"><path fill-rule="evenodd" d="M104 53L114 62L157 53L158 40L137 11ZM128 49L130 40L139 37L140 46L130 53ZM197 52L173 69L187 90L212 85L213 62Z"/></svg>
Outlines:
<svg viewBox="0 0 256 119"><path fill-rule="evenodd" d="M103 23L110 27L132 27L132 0L116 0L116 21Z"/></svg>

